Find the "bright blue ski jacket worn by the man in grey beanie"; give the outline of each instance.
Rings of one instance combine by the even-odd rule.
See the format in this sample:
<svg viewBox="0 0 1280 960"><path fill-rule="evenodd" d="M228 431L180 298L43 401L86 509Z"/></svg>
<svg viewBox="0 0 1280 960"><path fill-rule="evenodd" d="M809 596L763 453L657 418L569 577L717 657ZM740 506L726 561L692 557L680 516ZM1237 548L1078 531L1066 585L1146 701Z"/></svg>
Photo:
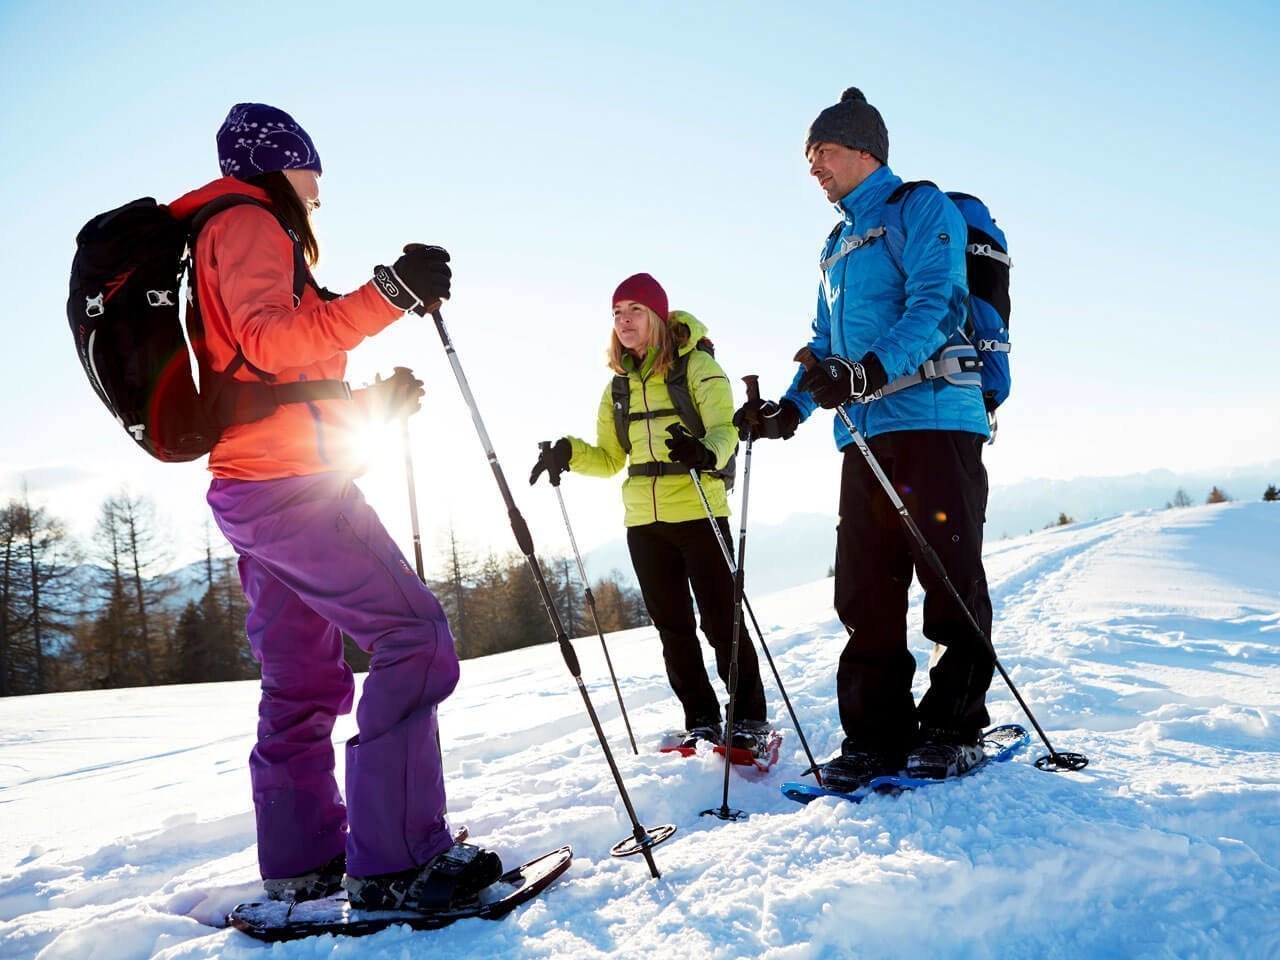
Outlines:
<svg viewBox="0 0 1280 960"><path fill-rule="evenodd" d="M965 343L969 288L965 280L968 228L955 204L936 187L913 189L904 201L901 266L888 251L884 201L902 183L888 166L836 204L844 218L828 238L820 261L818 314L809 348L819 360L832 355L879 358L890 381L914 374L943 346ZM818 407L799 389L796 371L785 399L801 420ZM870 438L895 430L961 430L988 435L978 385L925 380L870 403L845 407L854 426ZM852 436L837 416L836 447Z"/></svg>

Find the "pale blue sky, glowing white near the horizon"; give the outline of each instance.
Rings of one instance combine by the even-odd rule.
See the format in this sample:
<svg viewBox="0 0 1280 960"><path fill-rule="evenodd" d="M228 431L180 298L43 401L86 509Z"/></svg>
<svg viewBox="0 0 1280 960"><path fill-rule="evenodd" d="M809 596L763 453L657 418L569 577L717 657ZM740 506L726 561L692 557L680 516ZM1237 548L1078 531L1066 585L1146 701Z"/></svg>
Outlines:
<svg viewBox="0 0 1280 960"><path fill-rule="evenodd" d="M408 241L447 246L445 316L539 545L561 549L536 442L590 436L609 293L653 273L731 375L778 393L833 214L806 175L817 113L856 84L890 163L988 201L1014 259L1014 396L992 483L1280 456L1275 5L0 4L0 484L77 529L122 483L198 540L200 465L147 461L84 383L64 321L73 239L137 196L216 177L228 108L289 110L325 165L321 283ZM429 547L509 544L433 329L398 323L349 375L428 381L415 419ZM835 511L820 417L756 448L753 518ZM365 485L407 526L398 436ZM571 479L584 547L617 484Z"/></svg>

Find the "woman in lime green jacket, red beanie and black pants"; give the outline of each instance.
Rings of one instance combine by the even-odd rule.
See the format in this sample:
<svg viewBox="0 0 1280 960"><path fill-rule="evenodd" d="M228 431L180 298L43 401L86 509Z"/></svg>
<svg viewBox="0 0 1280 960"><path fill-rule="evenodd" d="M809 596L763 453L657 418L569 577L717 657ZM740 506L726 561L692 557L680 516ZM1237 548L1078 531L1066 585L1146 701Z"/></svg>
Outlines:
<svg viewBox="0 0 1280 960"><path fill-rule="evenodd" d="M705 334L691 314L668 314L667 294L649 274L623 280L613 293L609 340L609 367L616 376L600 399L595 443L561 438L539 457L529 477L534 483L544 470L613 476L627 467L622 484L627 548L662 639L667 678L685 710L686 748L699 740L724 742L721 705L698 644L690 586L726 686L733 644L733 576L689 475L690 470L701 475L716 522L724 541L732 543L718 471L737 449L733 393L710 352L698 348ZM677 412L680 406L692 407L703 428L699 431L695 422L692 433L701 435L686 430L673 438L668 433L672 424L689 426ZM760 668L745 631L739 640L737 677L733 746L760 753L769 728Z"/></svg>

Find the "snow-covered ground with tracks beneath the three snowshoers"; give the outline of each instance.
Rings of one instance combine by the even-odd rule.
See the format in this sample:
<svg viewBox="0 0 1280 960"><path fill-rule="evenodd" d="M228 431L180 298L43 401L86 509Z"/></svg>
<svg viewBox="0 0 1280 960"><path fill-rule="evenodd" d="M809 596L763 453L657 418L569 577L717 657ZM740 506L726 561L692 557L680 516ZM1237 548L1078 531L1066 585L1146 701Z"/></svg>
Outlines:
<svg viewBox="0 0 1280 960"><path fill-rule="evenodd" d="M1280 506L1078 524L987 559L1001 659L1088 769L1038 772L1033 744L916 794L799 806L778 785L804 756L767 677L782 760L733 776L751 815L722 823L699 817L717 762L653 751L678 722L654 634L609 637L640 756L599 641L579 640L640 818L680 827L653 881L608 855L627 819L556 648L472 660L442 712L452 819L509 863L563 842L576 860L506 920L433 933L273 948L207 925L261 891L253 684L0 701L0 957L1280 957ZM753 605L824 759L831 584ZM998 677L989 704L1023 719Z"/></svg>

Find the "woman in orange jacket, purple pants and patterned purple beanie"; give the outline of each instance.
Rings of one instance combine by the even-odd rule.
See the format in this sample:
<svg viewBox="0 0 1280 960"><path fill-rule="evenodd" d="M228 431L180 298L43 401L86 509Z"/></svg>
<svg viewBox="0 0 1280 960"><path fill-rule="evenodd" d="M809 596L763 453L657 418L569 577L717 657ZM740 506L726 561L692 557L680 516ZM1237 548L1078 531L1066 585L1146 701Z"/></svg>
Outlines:
<svg viewBox="0 0 1280 960"><path fill-rule="evenodd" d="M502 873L494 854L454 844L444 818L435 712L458 680L453 637L352 483L361 415L408 415L422 384L397 371L355 398L315 384L340 381L348 349L448 297L449 257L411 244L334 297L310 276L321 166L306 131L283 110L237 104L218 155L224 177L170 205L180 219L207 218L192 280L202 371L220 384L219 408L262 381L297 390L269 416L227 426L209 457L209 504L239 556L262 667L250 773L264 886L302 900L337 892L346 873L355 906L447 908ZM343 634L371 654L346 804L330 742L355 696Z"/></svg>

